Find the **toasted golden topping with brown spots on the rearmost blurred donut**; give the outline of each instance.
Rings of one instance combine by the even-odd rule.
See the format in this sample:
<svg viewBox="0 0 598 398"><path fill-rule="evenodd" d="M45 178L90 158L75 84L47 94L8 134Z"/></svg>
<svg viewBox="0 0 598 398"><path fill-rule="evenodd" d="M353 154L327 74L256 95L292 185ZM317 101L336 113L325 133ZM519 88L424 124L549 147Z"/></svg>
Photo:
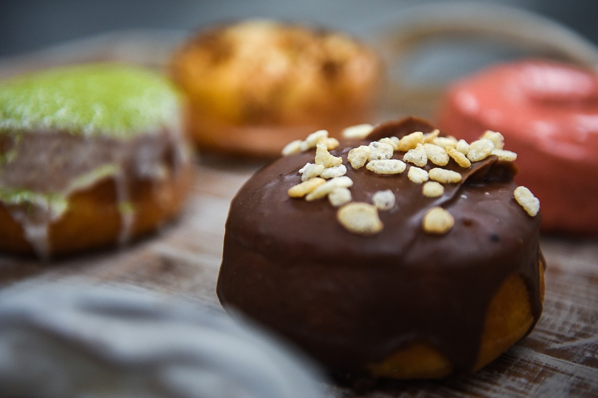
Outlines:
<svg viewBox="0 0 598 398"><path fill-rule="evenodd" d="M233 124L310 119L373 98L376 54L337 32L245 20L198 32L171 67L192 101ZM201 101L211 98L211 101Z"/></svg>

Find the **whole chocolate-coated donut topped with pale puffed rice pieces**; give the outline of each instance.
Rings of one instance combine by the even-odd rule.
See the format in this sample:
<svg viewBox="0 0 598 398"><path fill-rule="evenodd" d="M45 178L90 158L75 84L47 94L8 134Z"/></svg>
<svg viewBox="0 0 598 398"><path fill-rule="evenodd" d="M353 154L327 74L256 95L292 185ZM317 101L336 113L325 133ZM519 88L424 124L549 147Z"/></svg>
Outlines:
<svg viewBox="0 0 598 398"><path fill-rule="evenodd" d="M286 147L239 190L222 305L343 378L468 374L532 331L539 203L502 137L459 142L416 118L347 135Z"/></svg>

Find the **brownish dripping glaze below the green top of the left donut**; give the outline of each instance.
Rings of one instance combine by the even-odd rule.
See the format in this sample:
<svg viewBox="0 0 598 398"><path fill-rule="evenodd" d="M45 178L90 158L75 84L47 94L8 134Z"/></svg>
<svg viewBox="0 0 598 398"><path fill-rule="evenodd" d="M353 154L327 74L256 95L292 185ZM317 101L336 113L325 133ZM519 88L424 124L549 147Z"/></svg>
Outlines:
<svg viewBox="0 0 598 398"><path fill-rule="evenodd" d="M120 243L131 237L134 180L161 181L187 158L181 134L163 128L130 138L67 131L0 135L0 202L23 228L33 250L47 258L48 227L62 217L69 196L112 178L121 214Z"/></svg>

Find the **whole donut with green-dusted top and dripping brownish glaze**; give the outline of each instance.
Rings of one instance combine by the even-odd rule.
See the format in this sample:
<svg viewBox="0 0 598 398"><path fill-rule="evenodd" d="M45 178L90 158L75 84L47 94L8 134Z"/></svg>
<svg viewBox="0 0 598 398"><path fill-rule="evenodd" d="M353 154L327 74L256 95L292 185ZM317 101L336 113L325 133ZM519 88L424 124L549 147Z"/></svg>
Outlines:
<svg viewBox="0 0 598 398"><path fill-rule="evenodd" d="M42 258L126 243L181 209L181 98L153 72L71 66L0 84L0 250Z"/></svg>

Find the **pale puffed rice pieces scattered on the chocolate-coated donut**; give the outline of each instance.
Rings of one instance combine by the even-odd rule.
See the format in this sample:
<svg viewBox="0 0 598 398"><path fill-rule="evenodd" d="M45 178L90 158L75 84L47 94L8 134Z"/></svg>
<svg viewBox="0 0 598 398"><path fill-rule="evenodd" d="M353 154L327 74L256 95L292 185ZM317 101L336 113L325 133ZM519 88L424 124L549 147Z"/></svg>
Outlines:
<svg viewBox="0 0 598 398"><path fill-rule="evenodd" d="M367 134L373 131L371 125L357 125L346 128L343 135L351 139L365 139ZM367 134L365 134L367 132ZM348 133L348 134L347 134ZM353 181L345 174L347 166L343 162L357 170L364 165L368 171L377 175L386 175L392 178L393 175L401 175L407 168L407 178L410 183L422 184L423 198L440 198L444 195L443 184L457 184L463 179L459 171L443 167L432 167L424 169L428 162L434 165L447 166L450 161L456 163L457 170L471 169L472 163L480 162L488 156L496 156L499 161L512 162L517 159L517 154L504 148L504 137L499 132L485 131L479 140L467 143L465 140L457 140L454 137L440 136L440 131L433 131L424 134L421 131L414 131L405 134L402 138L394 136L383 137L371 141L368 145L359 145L346 151L346 158L334 156L328 152L326 141L330 140L328 131L319 130L307 136L306 140L292 141L283 155L288 156L296 152L306 152L316 147L315 163L306 163L299 169L301 183L289 189L291 198L303 198L312 201L328 197L332 206L342 206L343 217L340 211L337 213L337 220L352 233L361 235L376 235L382 230L382 221L377 211L388 211L395 206L395 195L391 190L373 192L371 196L372 206L376 208L374 213L364 206L368 203L359 203L359 206L348 206L352 200L349 188L353 187ZM337 141L338 142L338 141ZM291 148L289 150L288 148ZM402 159L394 157L395 153L402 153ZM411 163L407 165L407 163ZM453 166L454 168L454 166ZM326 179L329 179L326 181ZM430 181L428 181L430 180ZM519 187L514 193L515 200L534 217L539 211L539 201L529 190ZM431 211L431 210L434 211ZM353 215L355 212L355 215ZM358 215L357 215L358 214ZM364 221L368 218L368 222ZM376 221L373 221L373 220ZM369 223L369 224L368 224ZM367 224L369 227L363 227ZM379 227L377 225L380 224ZM376 227L372 227L372 226ZM427 233L443 235L449 233L454 225L453 216L441 208L434 206L429 209L422 218L422 229Z"/></svg>

